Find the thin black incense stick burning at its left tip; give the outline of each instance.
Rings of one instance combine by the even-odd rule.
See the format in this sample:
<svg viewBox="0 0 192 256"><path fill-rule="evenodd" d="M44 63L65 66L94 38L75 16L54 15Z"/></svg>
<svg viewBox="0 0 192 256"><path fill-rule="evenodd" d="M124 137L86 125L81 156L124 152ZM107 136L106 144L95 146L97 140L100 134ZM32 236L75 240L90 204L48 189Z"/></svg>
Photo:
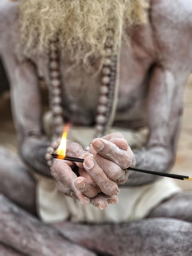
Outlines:
<svg viewBox="0 0 192 256"><path fill-rule="evenodd" d="M67 160L67 161L72 161L72 162L79 162L79 163L84 162L84 159L82 159L82 158L69 157L69 156L64 157L63 155L58 155L58 154L52 154L52 157L60 159L60 160ZM172 174L172 173L162 173L162 172L158 172L158 171L148 171L148 170L132 168L132 167L129 167L126 170L138 171L138 172L141 172L141 173L149 173L149 174L153 174L153 175L159 175L159 176L169 177L169 178L178 179L178 180L192 180L192 177L178 175L178 174Z"/></svg>

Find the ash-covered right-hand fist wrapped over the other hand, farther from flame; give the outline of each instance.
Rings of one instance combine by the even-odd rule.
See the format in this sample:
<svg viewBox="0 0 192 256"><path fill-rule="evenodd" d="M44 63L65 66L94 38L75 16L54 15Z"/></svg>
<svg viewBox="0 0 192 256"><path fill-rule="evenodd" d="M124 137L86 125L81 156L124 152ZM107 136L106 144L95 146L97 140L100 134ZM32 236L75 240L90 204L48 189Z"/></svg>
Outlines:
<svg viewBox="0 0 192 256"><path fill-rule="evenodd" d="M135 166L134 153L123 135L115 132L94 139L89 153L93 156L86 157L83 163L87 174L105 195L117 194L117 185L125 183L129 177L130 171L125 169Z"/></svg>

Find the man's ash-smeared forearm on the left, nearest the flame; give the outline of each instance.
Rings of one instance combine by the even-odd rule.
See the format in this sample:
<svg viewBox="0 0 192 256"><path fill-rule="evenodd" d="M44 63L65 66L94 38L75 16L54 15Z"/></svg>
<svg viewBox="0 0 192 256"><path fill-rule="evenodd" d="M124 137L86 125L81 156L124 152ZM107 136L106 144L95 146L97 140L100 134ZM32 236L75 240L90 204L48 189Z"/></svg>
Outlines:
<svg viewBox="0 0 192 256"><path fill-rule="evenodd" d="M50 176L45 159L50 141L42 129L42 102L36 68L30 61L18 61L6 48L3 60L11 84L11 105L20 156L30 169Z"/></svg>

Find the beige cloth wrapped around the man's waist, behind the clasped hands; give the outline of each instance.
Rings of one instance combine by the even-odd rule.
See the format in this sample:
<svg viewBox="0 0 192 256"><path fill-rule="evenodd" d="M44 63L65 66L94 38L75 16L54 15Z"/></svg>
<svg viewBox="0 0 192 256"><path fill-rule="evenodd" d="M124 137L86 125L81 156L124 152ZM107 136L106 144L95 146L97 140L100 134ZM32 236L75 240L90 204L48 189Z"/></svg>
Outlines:
<svg viewBox="0 0 192 256"><path fill-rule="evenodd" d="M142 146L147 131L139 132L113 128L109 132L123 133L131 147ZM82 146L92 141L94 129L71 128L69 139ZM36 175L37 200L40 218L44 222L125 222L144 218L157 204L169 198L181 189L170 178L163 178L152 184L137 187L123 187L118 195L118 204L109 204L107 209L100 210L92 204L83 205L57 190L54 180Z"/></svg>

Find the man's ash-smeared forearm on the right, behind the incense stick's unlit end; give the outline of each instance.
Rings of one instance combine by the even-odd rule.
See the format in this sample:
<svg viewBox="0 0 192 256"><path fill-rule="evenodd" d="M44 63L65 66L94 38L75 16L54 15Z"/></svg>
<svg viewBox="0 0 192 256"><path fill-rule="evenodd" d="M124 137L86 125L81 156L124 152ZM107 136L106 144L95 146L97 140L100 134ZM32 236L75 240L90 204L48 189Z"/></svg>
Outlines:
<svg viewBox="0 0 192 256"><path fill-rule="evenodd" d="M178 71L179 72L179 71ZM141 150L135 150L136 167L168 172L174 162L183 108L183 84L177 83L176 72L154 68L148 94L149 136ZM132 171L127 185L154 182L159 176Z"/></svg>

